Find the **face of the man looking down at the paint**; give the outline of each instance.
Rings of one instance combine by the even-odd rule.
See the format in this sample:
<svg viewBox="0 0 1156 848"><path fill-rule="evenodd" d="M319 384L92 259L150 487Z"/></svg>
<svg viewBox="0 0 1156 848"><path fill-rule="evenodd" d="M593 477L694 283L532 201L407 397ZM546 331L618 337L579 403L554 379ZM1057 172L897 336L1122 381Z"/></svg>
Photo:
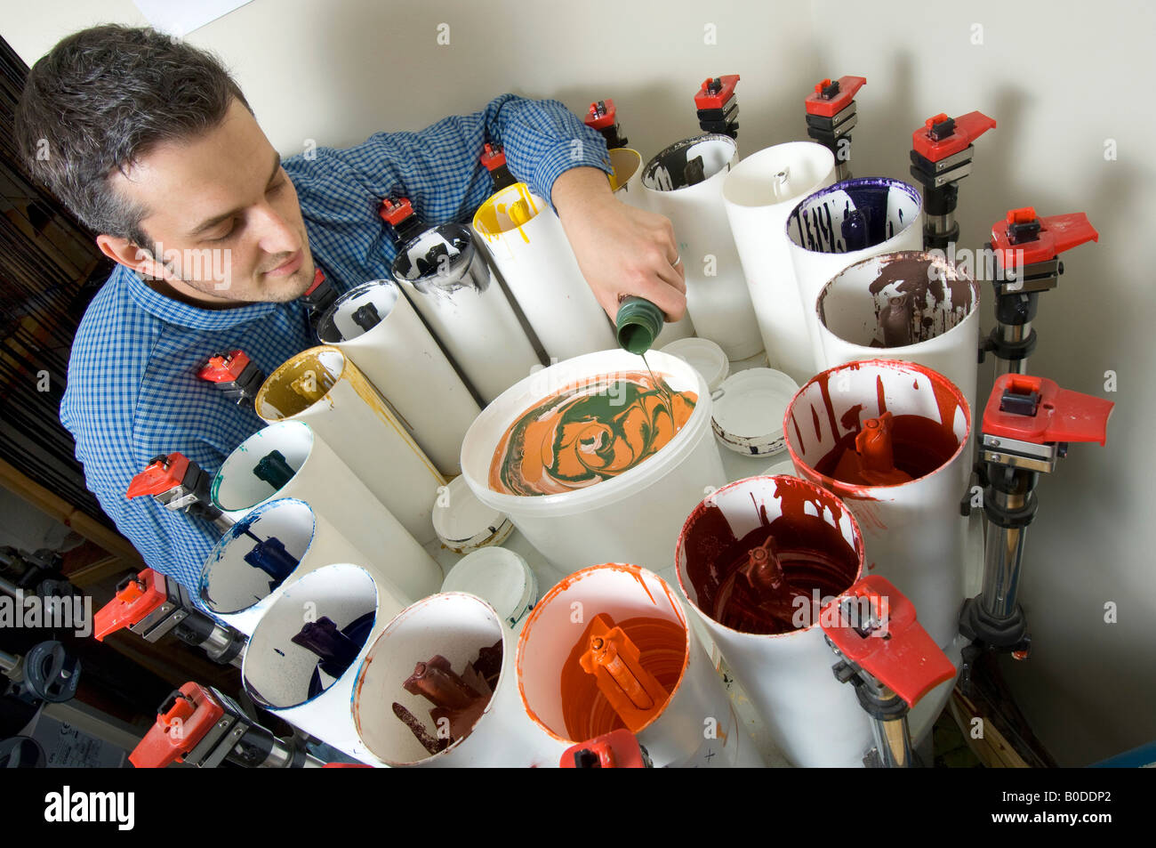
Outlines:
<svg viewBox="0 0 1156 848"><path fill-rule="evenodd" d="M163 263L153 274L169 294L221 308L291 301L313 281L297 192L239 101L220 126L160 145L112 184L147 211L148 253L133 252Z"/></svg>

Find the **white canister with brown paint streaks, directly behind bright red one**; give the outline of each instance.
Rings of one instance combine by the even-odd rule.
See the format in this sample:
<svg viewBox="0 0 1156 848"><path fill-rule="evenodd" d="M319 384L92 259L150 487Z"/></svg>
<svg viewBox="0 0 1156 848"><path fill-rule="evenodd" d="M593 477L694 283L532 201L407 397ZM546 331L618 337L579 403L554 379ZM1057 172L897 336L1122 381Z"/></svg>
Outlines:
<svg viewBox="0 0 1156 848"><path fill-rule="evenodd" d="M828 282L815 309L818 370L879 356L918 362L976 408L979 283L962 268L921 251L873 256Z"/></svg>

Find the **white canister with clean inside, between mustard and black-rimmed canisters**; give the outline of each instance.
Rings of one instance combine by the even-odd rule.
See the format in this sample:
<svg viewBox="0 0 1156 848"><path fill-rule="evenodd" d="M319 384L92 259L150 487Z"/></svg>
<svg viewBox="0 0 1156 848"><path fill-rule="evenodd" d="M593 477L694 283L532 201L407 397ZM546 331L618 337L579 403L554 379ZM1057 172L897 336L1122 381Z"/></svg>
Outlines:
<svg viewBox="0 0 1156 848"><path fill-rule="evenodd" d="M438 471L460 473L461 437L481 410L398 283L350 289L321 316L317 335L385 396Z"/></svg>

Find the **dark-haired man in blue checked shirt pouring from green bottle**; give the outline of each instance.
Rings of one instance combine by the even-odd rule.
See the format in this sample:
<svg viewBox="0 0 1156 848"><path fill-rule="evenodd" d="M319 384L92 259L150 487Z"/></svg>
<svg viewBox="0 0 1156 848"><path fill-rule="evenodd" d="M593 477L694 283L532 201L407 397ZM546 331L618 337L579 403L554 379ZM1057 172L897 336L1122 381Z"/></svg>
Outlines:
<svg viewBox="0 0 1156 848"><path fill-rule="evenodd" d="M499 142L514 177L557 209L609 315L623 295L670 320L686 308L669 221L614 199L601 137L554 101L503 95L420 133L282 162L212 56L106 25L36 62L16 138L34 175L118 263L76 333L61 421L105 513L149 566L190 587L220 533L126 499L128 484L172 451L215 473L262 426L198 369L240 348L271 373L316 344L298 298L318 266L340 292L387 278L383 198L408 197L430 222L468 221L490 194L482 145Z"/></svg>

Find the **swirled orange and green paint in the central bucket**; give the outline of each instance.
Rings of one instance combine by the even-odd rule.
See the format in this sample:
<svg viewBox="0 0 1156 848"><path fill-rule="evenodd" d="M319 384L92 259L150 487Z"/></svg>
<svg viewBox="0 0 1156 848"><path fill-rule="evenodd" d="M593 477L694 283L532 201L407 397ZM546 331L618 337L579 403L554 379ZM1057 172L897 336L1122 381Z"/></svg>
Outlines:
<svg viewBox="0 0 1156 848"><path fill-rule="evenodd" d="M490 488L551 495L617 477L674 438L697 401L695 392L673 391L645 371L566 386L526 410L505 432L490 463Z"/></svg>

